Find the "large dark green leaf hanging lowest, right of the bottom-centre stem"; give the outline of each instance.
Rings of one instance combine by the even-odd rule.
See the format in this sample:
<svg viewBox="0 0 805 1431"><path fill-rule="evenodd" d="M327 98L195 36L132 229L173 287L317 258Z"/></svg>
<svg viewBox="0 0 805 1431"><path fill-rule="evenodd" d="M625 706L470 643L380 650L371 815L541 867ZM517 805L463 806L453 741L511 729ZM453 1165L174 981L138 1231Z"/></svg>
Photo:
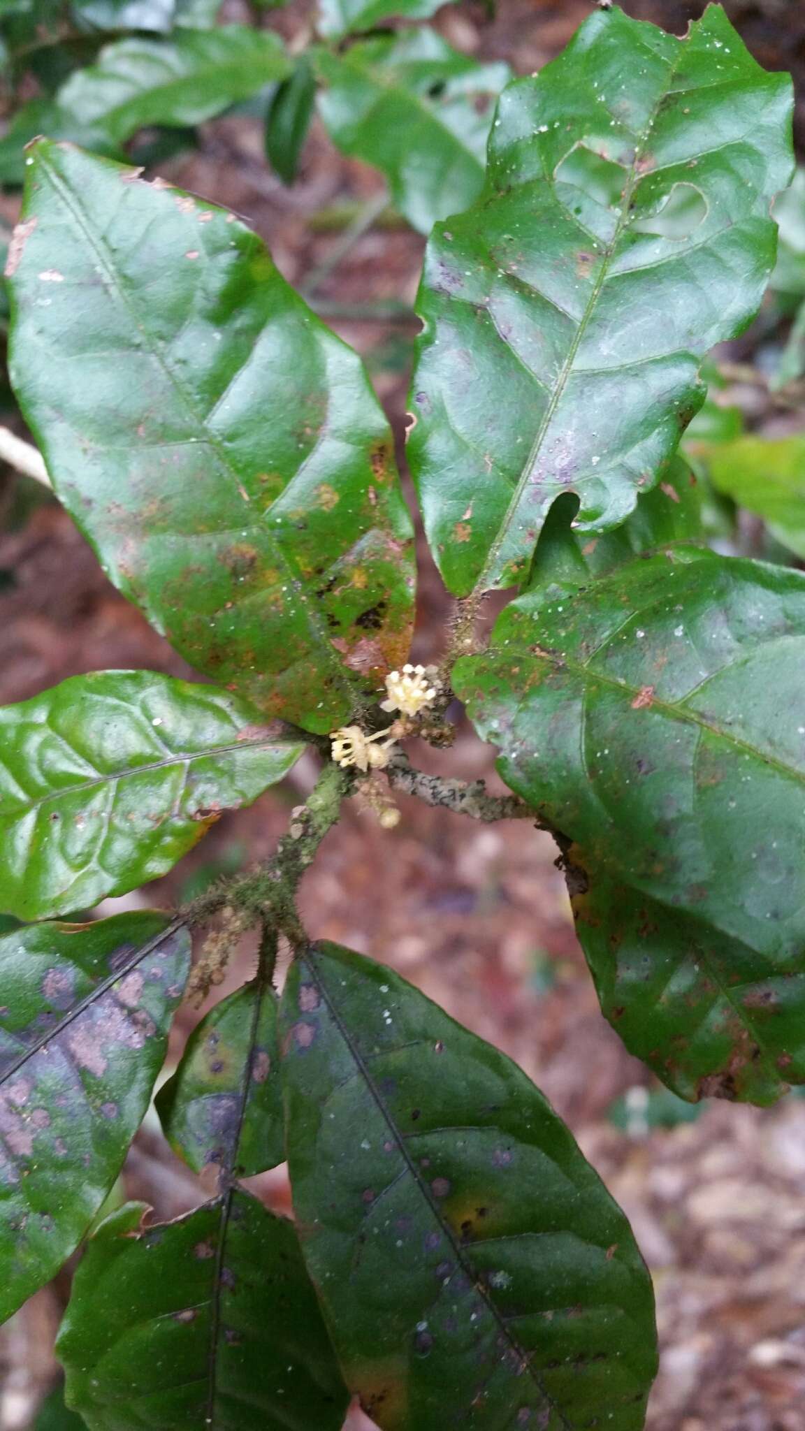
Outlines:
<svg viewBox="0 0 805 1431"><path fill-rule="evenodd" d="M526 1075L335 944L294 963L281 1025L299 1235L370 1417L639 1431L650 1279Z"/></svg>

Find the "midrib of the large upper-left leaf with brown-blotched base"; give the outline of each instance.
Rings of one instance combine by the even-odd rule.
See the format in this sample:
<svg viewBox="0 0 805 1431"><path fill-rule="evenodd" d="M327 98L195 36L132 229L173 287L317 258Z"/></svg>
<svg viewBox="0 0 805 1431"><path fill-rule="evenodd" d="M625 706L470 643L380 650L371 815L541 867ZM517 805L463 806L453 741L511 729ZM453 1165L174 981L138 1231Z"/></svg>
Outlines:
<svg viewBox="0 0 805 1431"><path fill-rule="evenodd" d="M246 502L244 499L242 489L241 489L241 479L239 479L238 471L232 467L232 464L229 461L225 444L222 444L221 439L216 436L216 434L213 434L208 428L206 422L203 421L203 418L201 416L201 414L196 411L196 406L195 406L195 402L193 402L191 394L186 391L185 385L179 381L179 378L176 376L176 373L173 372L170 363L168 361L166 353L162 351L162 343L159 343L159 341L153 336L153 333L140 322L140 319L139 319L139 316L136 313L136 309L133 308L132 302L129 301L126 289L123 288L122 282L117 278L117 273L116 273L116 269L115 269L115 266L112 263L112 259L110 259L110 256L106 252L106 245L103 245L100 240L97 240L95 238L95 235L92 233L92 229L89 229L87 225L85 223L85 219L83 219L80 207L77 207L77 205L73 202L73 196L72 196L72 190L70 190L69 185L57 175L54 166L50 163L50 160L46 156L46 153L43 153L42 147L37 150L37 159L39 159L39 163L42 165L43 170L47 173L47 177L50 179L50 183L53 185L53 189L56 190L56 193L62 199L62 203L64 205L66 210L69 212L70 218L73 219L73 223L76 225L76 228L82 233L86 245L96 255L96 258L97 258L100 266L103 268L103 272L105 272L105 275L106 275L106 278L107 278L107 280L110 283L110 288L112 288L113 293L117 296L117 301L125 308L126 313L129 315L130 322L138 329L138 332L140 332L143 335L143 339L146 342L146 351L150 353L150 356L153 358L153 361L159 365L159 368L162 369L162 372L168 378L170 386L178 394L182 405L185 406L186 412L189 414L192 422L196 425L196 428L199 431L202 431L202 432L206 434L206 441L209 442L212 451L215 452L221 469L231 479L231 484L232 484L235 492L238 494L239 502L248 509L249 525L256 525L259 528L259 531L266 535L266 538L268 538L268 541L271 544L271 550L272 550L275 561L278 562L278 565L284 567L285 571L288 572L288 580L289 580L289 582L292 582L294 590L295 590L295 592L297 592L297 595L299 598L299 602L302 605L302 610L305 612L305 620L307 620L308 628L311 631L311 637L314 638L314 644L315 644L315 647L318 650L321 650L325 654L327 663L328 663L328 665L331 667L331 670L334 673L334 678L335 678L334 684L337 684L341 688L341 691L344 693L344 695L345 695L345 698L348 701L348 708L350 708L350 711L352 711L355 708L355 705L357 705L357 693L355 693L355 688L352 687L352 683L347 677L339 658L337 657L335 651L332 650L332 645L329 643L329 638L327 635L324 624L322 624L322 621L318 617L318 611L311 604L309 597L308 597L308 594L305 591L305 584L302 581L302 575L301 575L297 564L292 561L291 555L285 551L285 548L282 547L282 544L279 541L276 541L276 538L274 537L272 528L271 528L271 525L266 521L259 521L259 522L255 524L255 512L251 508L251 502ZM291 487L292 481L294 481L294 478L291 478L289 482L288 482L288 485L284 488L284 494L288 491L288 487ZM259 515L262 518L266 514L258 511L256 515Z"/></svg>

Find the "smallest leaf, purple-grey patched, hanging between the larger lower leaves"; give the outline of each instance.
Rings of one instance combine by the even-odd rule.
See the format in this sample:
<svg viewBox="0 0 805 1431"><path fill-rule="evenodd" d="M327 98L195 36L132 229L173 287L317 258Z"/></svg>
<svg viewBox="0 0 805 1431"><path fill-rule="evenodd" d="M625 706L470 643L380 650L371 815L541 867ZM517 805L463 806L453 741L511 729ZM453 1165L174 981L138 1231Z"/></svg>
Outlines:
<svg viewBox="0 0 805 1431"><path fill-rule="evenodd" d="M165 1136L193 1172L252 1178L285 1161L276 995L254 979L193 1029L156 1095Z"/></svg>

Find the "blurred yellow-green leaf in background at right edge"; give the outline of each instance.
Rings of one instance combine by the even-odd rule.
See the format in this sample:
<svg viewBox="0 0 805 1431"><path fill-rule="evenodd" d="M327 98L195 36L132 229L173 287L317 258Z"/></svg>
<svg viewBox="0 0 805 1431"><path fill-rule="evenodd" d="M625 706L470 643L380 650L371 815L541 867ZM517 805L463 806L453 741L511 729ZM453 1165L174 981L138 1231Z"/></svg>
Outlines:
<svg viewBox="0 0 805 1431"><path fill-rule="evenodd" d="M742 436L702 449L713 487L805 558L805 436Z"/></svg>

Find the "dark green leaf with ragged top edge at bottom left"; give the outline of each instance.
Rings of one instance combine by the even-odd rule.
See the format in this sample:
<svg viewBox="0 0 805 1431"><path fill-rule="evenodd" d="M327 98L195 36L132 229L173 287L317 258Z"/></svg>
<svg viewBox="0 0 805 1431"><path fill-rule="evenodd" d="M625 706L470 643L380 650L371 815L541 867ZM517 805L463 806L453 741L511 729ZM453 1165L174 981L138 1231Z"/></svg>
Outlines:
<svg viewBox="0 0 805 1431"><path fill-rule="evenodd" d="M89 1244L57 1341L89 1431L339 1431L347 1392L289 1222L242 1191Z"/></svg>

